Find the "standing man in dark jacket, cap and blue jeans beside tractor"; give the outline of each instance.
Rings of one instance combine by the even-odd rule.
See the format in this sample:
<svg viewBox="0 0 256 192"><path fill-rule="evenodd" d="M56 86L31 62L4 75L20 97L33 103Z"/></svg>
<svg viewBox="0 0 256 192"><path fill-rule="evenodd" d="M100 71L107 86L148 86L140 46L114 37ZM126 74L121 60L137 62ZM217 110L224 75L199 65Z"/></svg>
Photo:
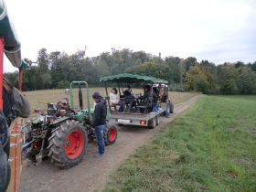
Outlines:
<svg viewBox="0 0 256 192"><path fill-rule="evenodd" d="M105 152L104 129L106 127L107 105L106 101L97 91L93 92L92 99L96 102L92 123L95 127L95 134L98 143L98 156L102 156Z"/></svg>

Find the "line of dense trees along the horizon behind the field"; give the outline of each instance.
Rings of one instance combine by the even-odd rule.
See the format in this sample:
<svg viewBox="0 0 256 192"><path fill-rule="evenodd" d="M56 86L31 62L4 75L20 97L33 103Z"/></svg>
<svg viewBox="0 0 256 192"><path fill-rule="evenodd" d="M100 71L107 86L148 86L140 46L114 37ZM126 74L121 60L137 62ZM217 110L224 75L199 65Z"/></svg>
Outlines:
<svg viewBox="0 0 256 192"><path fill-rule="evenodd" d="M72 80L86 80L91 86L100 86L100 77L128 72L168 80L170 88L175 91L256 93L256 61L217 66L208 60L198 62L193 57L161 59L128 48L112 48L111 52L91 58L86 57L83 50L68 55L59 51L48 53L46 48L41 48L37 54L37 66L32 65L30 59L26 61L30 69L24 71L24 91L67 88ZM17 84L17 72L5 73L5 77Z"/></svg>

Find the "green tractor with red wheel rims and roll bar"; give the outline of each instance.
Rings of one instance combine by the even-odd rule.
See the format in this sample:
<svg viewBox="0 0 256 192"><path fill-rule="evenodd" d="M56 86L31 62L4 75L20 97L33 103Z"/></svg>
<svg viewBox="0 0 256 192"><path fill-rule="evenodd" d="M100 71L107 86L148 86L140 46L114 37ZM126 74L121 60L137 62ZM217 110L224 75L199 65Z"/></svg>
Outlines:
<svg viewBox="0 0 256 192"><path fill-rule="evenodd" d="M79 88L79 110L73 108L74 86ZM81 87L85 88L87 109L83 109ZM91 109L87 82L73 81L70 83L70 89L65 92L69 94L70 106L69 103L65 105L65 101L48 103L47 113L39 112L38 116L24 127L23 156L33 162L41 162L44 157L49 157L51 162L60 168L78 165L86 155L88 141L95 139L91 125L94 109ZM107 121L108 118L109 115ZM115 143L116 138L116 126L107 123L104 131L105 144Z"/></svg>

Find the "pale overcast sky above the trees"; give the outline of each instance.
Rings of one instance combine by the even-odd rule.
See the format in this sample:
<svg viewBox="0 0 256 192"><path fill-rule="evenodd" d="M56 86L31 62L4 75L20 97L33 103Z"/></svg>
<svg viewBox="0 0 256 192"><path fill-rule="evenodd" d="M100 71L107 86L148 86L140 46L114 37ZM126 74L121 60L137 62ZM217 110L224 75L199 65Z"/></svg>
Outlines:
<svg viewBox="0 0 256 192"><path fill-rule="evenodd" d="M5 4L22 57L33 61L40 48L72 54L85 46L89 57L111 48L131 48L216 64L256 61L253 0L5 0ZM5 71L13 70L5 62Z"/></svg>

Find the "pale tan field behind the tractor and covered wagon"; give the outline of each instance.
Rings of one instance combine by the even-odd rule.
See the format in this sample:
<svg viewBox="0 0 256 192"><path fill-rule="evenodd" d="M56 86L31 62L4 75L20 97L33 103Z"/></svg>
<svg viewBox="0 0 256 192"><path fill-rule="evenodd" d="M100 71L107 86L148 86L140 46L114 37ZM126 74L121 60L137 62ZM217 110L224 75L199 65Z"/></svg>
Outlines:
<svg viewBox="0 0 256 192"><path fill-rule="evenodd" d="M105 96L105 89L104 88L91 88L90 89L90 99L91 94L94 91L100 91L102 96ZM142 90L133 89L133 92L140 93ZM79 102L78 102L78 90L75 89L74 91L74 105L76 108L79 108ZM25 92L27 99L29 101L29 104L31 106L31 109L37 109L40 108L41 110L46 110L47 103L57 103L60 101L63 97L68 97L69 95L65 95L65 90L45 90L45 91L27 91ZM170 92L169 97L175 101L175 103L187 101L189 98L195 96L197 93L188 93L188 92ZM83 91L83 98L85 98L85 91ZM92 100L91 106L92 105ZM84 100L84 105L86 105L86 101Z"/></svg>

